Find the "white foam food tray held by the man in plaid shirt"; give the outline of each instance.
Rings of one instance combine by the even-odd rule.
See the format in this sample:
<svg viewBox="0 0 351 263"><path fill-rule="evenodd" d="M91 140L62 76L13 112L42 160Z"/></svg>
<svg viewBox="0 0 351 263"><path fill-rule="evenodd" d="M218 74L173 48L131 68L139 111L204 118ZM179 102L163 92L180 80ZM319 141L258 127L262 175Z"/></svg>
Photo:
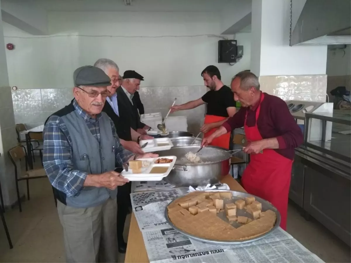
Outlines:
<svg viewBox="0 0 351 263"><path fill-rule="evenodd" d="M171 159L171 163L155 163L159 158ZM166 177L173 169L174 163L176 163L177 156L161 156L155 158L143 158L138 159L143 162L143 168L141 168L141 173L133 174L132 169L128 167L128 171L123 170L121 175L128 178L129 181L161 181ZM152 169L155 167L167 167L164 173L152 173Z"/></svg>

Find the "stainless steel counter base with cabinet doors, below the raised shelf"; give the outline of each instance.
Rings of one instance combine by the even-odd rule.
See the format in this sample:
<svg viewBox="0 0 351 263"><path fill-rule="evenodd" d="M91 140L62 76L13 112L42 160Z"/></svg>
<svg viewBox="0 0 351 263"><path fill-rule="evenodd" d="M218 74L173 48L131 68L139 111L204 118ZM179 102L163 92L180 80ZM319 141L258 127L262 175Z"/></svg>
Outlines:
<svg viewBox="0 0 351 263"><path fill-rule="evenodd" d="M339 143L338 151L351 147L331 147ZM295 154L289 198L351 246L351 163L305 146Z"/></svg>

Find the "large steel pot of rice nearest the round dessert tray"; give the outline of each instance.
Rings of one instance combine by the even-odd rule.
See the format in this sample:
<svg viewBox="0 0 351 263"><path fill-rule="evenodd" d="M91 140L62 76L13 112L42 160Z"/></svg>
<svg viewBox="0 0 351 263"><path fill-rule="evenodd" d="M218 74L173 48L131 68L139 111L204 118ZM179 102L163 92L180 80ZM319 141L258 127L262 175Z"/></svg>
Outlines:
<svg viewBox="0 0 351 263"><path fill-rule="evenodd" d="M207 146L198 156L201 163L189 162L185 154L189 151L196 153L199 145L172 147L170 150L160 151L160 156L177 156L176 164L170 174L164 178L165 181L178 187L206 186L208 183L217 183L221 176L229 174L230 153L225 149Z"/></svg>

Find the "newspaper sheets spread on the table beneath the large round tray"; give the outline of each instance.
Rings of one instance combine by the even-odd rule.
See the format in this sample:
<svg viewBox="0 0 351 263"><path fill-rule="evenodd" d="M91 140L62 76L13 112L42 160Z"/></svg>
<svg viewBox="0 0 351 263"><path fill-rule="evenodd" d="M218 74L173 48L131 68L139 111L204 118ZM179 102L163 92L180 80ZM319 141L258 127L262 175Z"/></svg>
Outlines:
<svg viewBox="0 0 351 263"><path fill-rule="evenodd" d="M172 200L187 191L172 188L131 194L151 263L323 263L281 228L258 241L230 246L203 243L181 234L167 223L164 212Z"/></svg>

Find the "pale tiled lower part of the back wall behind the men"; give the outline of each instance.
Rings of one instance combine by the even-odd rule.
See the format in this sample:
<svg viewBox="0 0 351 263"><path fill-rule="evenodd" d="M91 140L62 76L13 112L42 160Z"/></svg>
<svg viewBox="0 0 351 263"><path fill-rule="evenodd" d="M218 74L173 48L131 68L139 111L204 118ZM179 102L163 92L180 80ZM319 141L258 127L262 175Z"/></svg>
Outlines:
<svg viewBox="0 0 351 263"><path fill-rule="evenodd" d="M199 99L206 91L205 86L143 87L139 93L146 113L161 112L165 117L174 98L177 98L177 104L182 104ZM72 88L12 90L15 123L24 123L27 128L39 126L72 99ZM205 107L176 112L174 115L187 116L188 130L196 133L203 122Z"/></svg>

